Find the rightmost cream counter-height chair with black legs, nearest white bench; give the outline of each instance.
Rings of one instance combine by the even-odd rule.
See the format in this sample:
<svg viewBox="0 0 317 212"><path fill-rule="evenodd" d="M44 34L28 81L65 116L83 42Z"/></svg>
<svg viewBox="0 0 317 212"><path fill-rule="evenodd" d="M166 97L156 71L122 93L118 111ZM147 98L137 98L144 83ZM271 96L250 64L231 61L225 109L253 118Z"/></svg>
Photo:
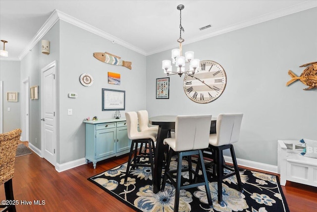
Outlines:
<svg viewBox="0 0 317 212"><path fill-rule="evenodd" d="M219 114L216 122L216 134L210 134L209 147L207 150L212 152L212 159L214 164L212 181L217 181L218 183L218 202L220 205L223 205L223 179L236 175L238 190L243 192L239 168L232 145L232 143L235 143L239 140L242 117L242 113ZM225 165L222 153L224 149L230 149L233 168ZM229 173L224 174L223 168L229 170Z"/></svg>

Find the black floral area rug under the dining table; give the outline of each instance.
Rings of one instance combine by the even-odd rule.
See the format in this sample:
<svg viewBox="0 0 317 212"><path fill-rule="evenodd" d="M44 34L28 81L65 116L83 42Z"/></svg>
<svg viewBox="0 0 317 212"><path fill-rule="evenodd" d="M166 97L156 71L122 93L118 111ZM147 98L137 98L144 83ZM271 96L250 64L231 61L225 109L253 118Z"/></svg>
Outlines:
<svg viewBox="0 0 317 212"><path fill-rule="evenodd" d="M177 162L174 158L170 168L174 169L176 166ZM188 166L188 161L183 159L182 166ZM196 163L193 163L194 169L195 166ZM163 192L154 194L150 167L138 167L132 170L127 183L124 184L126 167L127 163L124 163L88 180L138 212L174 211L175 188L173 185L166 183ZM211 172L212 169L208 168L207 171ZM223 206L220 206L217 201L216 182L209 183L213 208L208 205L205 186L181 190L179 212L289 212L277 176L247 169L240 169L240 176L243 193L236 190L235 176L223 181ZM182 182L187 179L189 174L184 172Z"/></svg>

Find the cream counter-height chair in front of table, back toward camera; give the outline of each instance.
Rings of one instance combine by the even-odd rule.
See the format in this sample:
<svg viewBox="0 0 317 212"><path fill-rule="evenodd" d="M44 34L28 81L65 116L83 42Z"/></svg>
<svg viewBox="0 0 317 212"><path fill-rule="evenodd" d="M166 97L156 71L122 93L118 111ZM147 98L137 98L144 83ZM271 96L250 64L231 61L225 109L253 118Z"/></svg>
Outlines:
<svg viewBox="0 0 317 212"><path fill-rule="evenodd" d="M179 195L181 189L194 188L197 186L205 185L207 199L209 205L212 207L211 193L209 188L209 183L207 179L205 166L202 167L203 175L199 175L199 170L192 169L191 156L199 155L198 160L201 164L204 164L203 153L201 149L205 149L209 145L209 134L211 126L211 115L195 115L195 116L177 116L175 122L175 138L164 139L163 143L169 145L169 152L167 156L166 169L164 173L164 179L162 182L161 191L164 191L167 178L170 183L174 185L175 192L175 202L174 202L174 212L178 212L179 206ZM178 156L177 169L170 170L169 165L172 155L176 153ZM182 158L183 156L188 157L188 167L182 168ZM198 166L197 166L198 167ZM189 183L181 183L182 172L189 172ZM173 179L176 173L176 181ZM193 181L193 174L196 179L201 179Z"/></svg>

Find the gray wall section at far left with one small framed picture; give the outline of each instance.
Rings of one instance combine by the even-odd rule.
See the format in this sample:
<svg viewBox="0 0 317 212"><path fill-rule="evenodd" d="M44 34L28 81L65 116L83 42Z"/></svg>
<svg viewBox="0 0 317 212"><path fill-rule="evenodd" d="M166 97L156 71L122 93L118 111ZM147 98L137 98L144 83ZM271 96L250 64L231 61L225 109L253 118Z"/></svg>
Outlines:
<svg viewBox="0 0 317 212"><path fill-rule="evenodd" d="M21 128L20 61L1 60L0 81L3 81L3 133L6 133ZM18 101L7 102L7 92L18 92Z"/></svg>

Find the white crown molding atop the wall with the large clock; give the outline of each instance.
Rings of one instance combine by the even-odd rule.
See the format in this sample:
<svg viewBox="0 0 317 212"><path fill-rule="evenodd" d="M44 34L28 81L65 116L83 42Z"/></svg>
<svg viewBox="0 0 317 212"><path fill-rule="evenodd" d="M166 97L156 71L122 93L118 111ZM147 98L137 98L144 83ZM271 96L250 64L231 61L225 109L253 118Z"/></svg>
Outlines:
<svg viewBox="0 0 317 212"><path fill-rule="evenodd" d="M211 33L208 33L208 34L205 34L205 35L202 35L202 36L197 36L197 37L195 37L193 39L186 40L186 44L184 43L183 45L187 45L187 44L190 44L190 43L201 41L201 40L204 40L204 39L207 39L207 38L211 38L211 37L214 37L214 36L217 36L217 35L221 35L221 34L224 34L224 33L227 33L227 32L231 32L231 31L234 31L234 30L242 29L242 28L245 28L245 27L248 27L248 26L252 26L252 25L255 25L255 24L258 24L258 23L263 23L263 22L268 21L268 20L272 20L272 19L275 19L275 18L283 17L283 16L286 16L286 15L290 15L290 14L293 14L293 13L296 13L296 12L300 12L300 11L303 11L303 10L306 10L306 9L310 9L310 8L313 8L313 7L317 7L317 0L305 1L305 2L296 4L296 5L293 5L293 6L289 6L289 7L284 8L284 9L280 9L280 10L277 10L277 11L274 11L274 12L267 13L265 15L258 16L256 18L253 18L253 19L250 19L250 20L247 20L247 21L239 22L239 23L236 23L234 25L231 25L231 26L228 26L228 27L224 27L222 29L216 30L214 32L211 32ZM165 47L162 47L162 48L155 49L153 51L147 52L146 56L153 55L153 54L156 54L156 53L159 53L159 52L163 52L163 51L166 51L166 50L170 50L170 49L173 49L173 48L175 48L175 45L165 46Z"/></svg>

